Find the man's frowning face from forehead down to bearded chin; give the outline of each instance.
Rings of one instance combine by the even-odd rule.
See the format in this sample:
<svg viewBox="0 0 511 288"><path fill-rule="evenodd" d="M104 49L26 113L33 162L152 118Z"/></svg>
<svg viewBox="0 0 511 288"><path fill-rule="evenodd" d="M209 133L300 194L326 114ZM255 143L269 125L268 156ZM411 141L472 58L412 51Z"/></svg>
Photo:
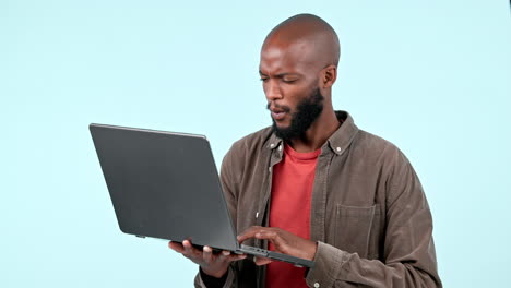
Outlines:
<svg viewBox="0 0 511 288"><path fill-rule="evenodd" d="M259 73L273 128L284 140L300 137L321 115L319 71L307 61L307 45L265 44Z"/></svg>

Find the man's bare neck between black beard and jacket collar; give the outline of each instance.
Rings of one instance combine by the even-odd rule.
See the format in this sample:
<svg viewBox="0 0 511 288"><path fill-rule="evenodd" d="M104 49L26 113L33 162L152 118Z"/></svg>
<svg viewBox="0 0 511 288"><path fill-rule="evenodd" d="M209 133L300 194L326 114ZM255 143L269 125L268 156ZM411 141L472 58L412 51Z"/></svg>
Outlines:
<svg viewBox="0 0 511 288"><path fill-rule="evenodd" d="M323 146L340 125L341 123L332 108L323 110L320 117L306 131L304 136L293 139L288 144L293 149L299 153L317 151Z"/></svg>

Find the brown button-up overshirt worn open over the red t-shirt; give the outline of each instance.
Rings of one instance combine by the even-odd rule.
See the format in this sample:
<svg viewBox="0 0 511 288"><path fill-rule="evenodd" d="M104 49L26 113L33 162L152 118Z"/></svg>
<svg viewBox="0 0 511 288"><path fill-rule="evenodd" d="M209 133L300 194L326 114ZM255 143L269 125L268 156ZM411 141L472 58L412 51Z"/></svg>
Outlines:
<svg viewBox="0 0 511 288"><path fill-rule="evenodd" d="M431 214L419 180L401 151L344 123L321 147L312 188L311 240L316 266L309 287L442 287L431 237ZM283 143L271 128L236 142L221 179L238 232L268 224L272 167ZM266 247L248 240L247 244ZM264 287L265 268L233 263L224 287ZM195 287L205 287L200 274Z"/></svg>

